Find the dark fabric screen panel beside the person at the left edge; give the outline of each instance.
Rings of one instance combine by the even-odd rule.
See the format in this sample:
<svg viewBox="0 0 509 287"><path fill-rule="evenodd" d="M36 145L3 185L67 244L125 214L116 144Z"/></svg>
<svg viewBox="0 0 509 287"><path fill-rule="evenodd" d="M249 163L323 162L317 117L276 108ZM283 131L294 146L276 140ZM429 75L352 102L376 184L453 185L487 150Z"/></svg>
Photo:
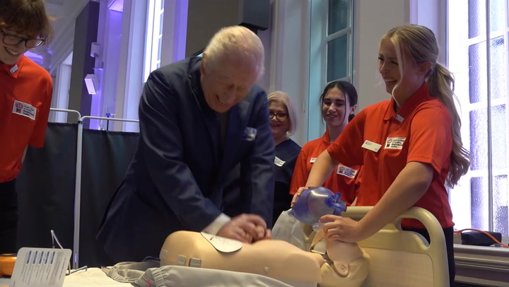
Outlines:
<svg viewBox="0 0 509 287"><path fill-rule="evenodd" d="M53 229L72 249L77 132L78 124L48 123L44 147L28 147L16 180L18 247L52 247Z"/></svg>

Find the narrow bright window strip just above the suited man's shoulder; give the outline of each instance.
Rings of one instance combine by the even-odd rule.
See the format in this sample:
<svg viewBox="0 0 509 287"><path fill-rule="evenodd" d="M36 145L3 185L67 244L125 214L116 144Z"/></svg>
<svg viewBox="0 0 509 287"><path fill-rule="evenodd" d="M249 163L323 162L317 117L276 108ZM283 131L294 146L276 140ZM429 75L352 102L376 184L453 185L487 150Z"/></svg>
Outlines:
<svg viewBox="0 0 509 287"><path fill-rule="evenodd" d="M147 0L147 2L144 82L153 70L160 67L165 0Z"/></svg>

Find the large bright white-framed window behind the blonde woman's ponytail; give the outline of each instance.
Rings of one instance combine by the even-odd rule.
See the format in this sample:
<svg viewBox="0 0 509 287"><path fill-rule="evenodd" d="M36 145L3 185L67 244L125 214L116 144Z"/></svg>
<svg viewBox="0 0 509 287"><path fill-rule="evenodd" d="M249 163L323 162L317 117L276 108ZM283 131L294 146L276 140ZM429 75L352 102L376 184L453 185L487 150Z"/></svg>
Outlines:
<svg viewBox="0 0 509 287"><path fill-rule="evenodd" d="M448 3L449 68L456 78L463 144L472 153L468 174L451 190L452 213L458 229L504 236L509 235L508 2Z"/></svg>

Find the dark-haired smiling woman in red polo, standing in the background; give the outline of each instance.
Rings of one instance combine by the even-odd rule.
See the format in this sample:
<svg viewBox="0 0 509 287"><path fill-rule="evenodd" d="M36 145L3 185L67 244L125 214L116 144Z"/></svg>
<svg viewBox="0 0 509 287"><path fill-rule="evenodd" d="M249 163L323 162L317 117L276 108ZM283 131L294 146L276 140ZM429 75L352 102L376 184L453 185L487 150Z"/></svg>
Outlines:
<svg viewBox="0 0 509 287"><path fill-rule="evenodd" d="M299 187L304 187L312 165L320 153L343 132L346 124L353 118L357 109L357 90L349 82L334 81L329 83L320 95L322 102L322 117L327 124L324 135L305 144L297 159L293 178L290 186L290 193L296 194ZM350 205L356 198L356 182L358 183L358 166L337 165L334 168L323 186L332 192L341 192L341 199ZM294 196L291 205L295 203Z"/></svg>

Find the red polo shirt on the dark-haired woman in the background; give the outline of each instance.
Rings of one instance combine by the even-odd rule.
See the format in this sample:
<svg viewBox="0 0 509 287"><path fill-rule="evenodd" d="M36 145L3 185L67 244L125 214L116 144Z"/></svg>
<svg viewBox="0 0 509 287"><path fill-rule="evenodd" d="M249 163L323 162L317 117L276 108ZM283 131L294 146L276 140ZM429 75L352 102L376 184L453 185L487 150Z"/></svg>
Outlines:
<svg viewBox="0 0 509 287"><path fill-rule="evenodd" d="M293 168L290 194L295 194L299 187L305 186L313 163L320 156L320 153L329 146L329 131L325 131L321 138L309 141L303 146L297 158L296 166ZM350 205L356 198L356 189L360 184L359 169L359 166L348 167L340 164L327 177L323 186L332 190L332 192L341 192L341 199Z"/></svg>

